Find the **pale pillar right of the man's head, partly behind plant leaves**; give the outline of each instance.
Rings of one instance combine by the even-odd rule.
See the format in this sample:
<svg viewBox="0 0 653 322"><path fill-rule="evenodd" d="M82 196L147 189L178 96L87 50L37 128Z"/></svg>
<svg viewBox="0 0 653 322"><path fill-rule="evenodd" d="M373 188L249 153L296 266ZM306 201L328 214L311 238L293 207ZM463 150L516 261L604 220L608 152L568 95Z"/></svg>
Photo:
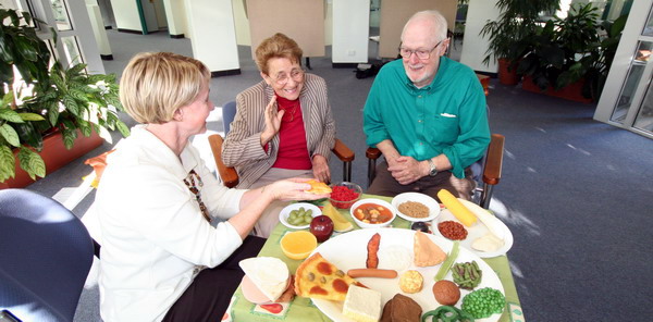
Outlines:
<svg viewBox="0 0 653 322"><path fill-rule="evenodd" d="M497 71L494 61L490 62L489 65L483 64L489 41L479 36L488 20L493 21L498 17L500 12L495 3L496 0L469 0L460 62L477 72L496 73Z"/></svg>

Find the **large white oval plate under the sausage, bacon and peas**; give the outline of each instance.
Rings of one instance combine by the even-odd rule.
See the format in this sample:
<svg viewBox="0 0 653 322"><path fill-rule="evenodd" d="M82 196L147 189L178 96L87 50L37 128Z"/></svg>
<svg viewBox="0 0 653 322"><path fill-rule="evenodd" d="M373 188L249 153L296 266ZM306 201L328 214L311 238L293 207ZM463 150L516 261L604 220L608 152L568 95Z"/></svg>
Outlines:
<svg viewBox="0 0 653 322"><path fill-rule="evenodd" d="M322 257L324 257L328 261L335 264L338 269L344 272L350 269L362 269L365 268L365 262L367 259L367 244L375 233L381 234L381 245L379 248L379 269L387 269L387 263L384 263L384 259L382 255L385 248L405 248L410 253L410 264L407 270L417 270L424 277L424 285L422 290L415 294L405 294L399 288L399 277L395 278L372 278L372 277L362 277L357 278L360 283L365 284L371 289L375 289L381 292L381 304L383 307L386 301L392 299L392 297L402 293L405 296L412 298L417 301L421 308L422 312L428 312L434 310L440 307L440 304L435 301L435 297L433 296L433 281L435 273L440 269L441 264L428 268L416 268L412 264L412 244L414 244L414 231L410 230L402 230L402 228L378 228L378 230L358 230L349 233L345 233L324 242L322 245L316 248L315 252L320 252ZM445 239L440 236L427 234L429 238L433 243L435 243L443 251L449 252L453 247L453 243L448 239ZM346 251L344 251L346 250ZM460 247L458 258L456 262L470 262L476 260L479 268L483 271L483 278L481 283L476 289L480 289L483 287L492 287L498 289L502 294L505 295L503 285L498 280L498 276L490 268L485 261L480 259L478 256L469 251L468 249ZM403 271L398 272L399 276ZM445 280L453 281L452 272L449 271ZM460 308L463 304L463 298L469 294L469 290L460 289L460 299L456 304L457 308ZM348 322L350 319L343 315L343 305L344 302L340 301L331 301L324 299L312 299L313 304L322 313L332 319L333 321L340 322ZM494 322L501 318L501 314L492 314L486 319L477 319L479 322Z"/></svg>

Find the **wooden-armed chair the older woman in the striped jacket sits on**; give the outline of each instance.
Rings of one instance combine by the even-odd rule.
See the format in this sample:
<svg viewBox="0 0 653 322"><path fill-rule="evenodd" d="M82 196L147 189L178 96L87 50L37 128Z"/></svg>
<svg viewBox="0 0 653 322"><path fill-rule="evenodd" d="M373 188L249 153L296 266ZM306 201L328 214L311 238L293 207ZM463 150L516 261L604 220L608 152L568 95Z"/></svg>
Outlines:
<svg viewBox="0 0 653 322"><path fill-rule="evenodd" d="M222 107L222 122L224 124L224 134L226 135L231 129L231 123L234 121L236 116L236 102L230 101ZM222 184L229 188L235 187L239 179L238 173L232 166L224 165L222 162L222 145L224 144L224 138L222 138L219 134L212 134L209 136L209 144L211 146L211 151L213 151L213 159L215 159L215 168L218 169L218 174L222 179ZM331 151L343 161L343 181L349 182L352 181L352 162L356 157L354 151L352 151L343 141L338 138L335 139L335 146Z"/></svg>

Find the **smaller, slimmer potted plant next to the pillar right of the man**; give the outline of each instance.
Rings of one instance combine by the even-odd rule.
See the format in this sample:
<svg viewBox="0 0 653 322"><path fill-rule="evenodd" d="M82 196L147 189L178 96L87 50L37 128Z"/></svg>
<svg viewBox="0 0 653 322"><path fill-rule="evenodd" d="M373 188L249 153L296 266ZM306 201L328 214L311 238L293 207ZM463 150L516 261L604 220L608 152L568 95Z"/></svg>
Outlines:
<svg viewBox="0 0 653 322"><path fill-rule="evenodd" d="M495 59L498 63L498 81L504 85L517 85L517 65L525 54L522 39L531 37L538 27L541 12L557 10L557 0L498 0L501 14L496 21L488 21L480 35L490 44L483 63Z"/></svg>

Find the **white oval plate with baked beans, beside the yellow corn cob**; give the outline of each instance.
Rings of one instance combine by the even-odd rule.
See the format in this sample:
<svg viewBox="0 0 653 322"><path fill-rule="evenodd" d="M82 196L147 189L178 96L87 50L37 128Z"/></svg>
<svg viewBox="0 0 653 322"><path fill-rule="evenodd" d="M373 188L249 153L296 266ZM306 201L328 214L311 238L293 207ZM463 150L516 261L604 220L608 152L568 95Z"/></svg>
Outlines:
<svg viewBox="0 0 653 322"><path fill-rule="evenodd" d="M461 246L481 258L502 256L510 250L514 242L513 233L506 224L471 201L460 198L458 201L473 213L477 218L476 223L467 226L445 208L432 222L431 231L434 235L449 240L459 240Z"/></svg>

